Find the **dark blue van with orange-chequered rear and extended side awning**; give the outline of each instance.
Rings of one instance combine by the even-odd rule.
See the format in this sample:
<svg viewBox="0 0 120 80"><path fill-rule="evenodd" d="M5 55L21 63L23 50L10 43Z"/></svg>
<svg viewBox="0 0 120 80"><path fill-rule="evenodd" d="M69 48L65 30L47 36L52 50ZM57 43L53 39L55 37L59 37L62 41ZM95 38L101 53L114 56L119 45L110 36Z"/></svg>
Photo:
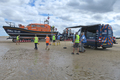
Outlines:
<svg viewBox="0 0 120 80"><path fill-rule="evenodd" d="M77 32L79 35L84 32L87 43L85 46L102 47L103 49L113 46L113 30L109 24L95 24L88 26L73 26L68 28L80 28Z"/></svg>

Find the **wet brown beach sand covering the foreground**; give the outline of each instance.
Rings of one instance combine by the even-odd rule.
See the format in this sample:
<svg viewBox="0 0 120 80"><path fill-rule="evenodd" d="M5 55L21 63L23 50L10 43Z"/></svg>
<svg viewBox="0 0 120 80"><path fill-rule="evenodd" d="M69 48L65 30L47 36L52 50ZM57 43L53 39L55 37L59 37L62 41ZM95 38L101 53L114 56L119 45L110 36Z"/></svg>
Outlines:
<svg viewBox="0 0 120 80"><path fill-rule="evenodd" d="M120 80L120 39L112 48L72 55L71 41L49 46L41 41L16 45L0 37L0 80ZM76 50L77 52L77 50Z"/></svg>

